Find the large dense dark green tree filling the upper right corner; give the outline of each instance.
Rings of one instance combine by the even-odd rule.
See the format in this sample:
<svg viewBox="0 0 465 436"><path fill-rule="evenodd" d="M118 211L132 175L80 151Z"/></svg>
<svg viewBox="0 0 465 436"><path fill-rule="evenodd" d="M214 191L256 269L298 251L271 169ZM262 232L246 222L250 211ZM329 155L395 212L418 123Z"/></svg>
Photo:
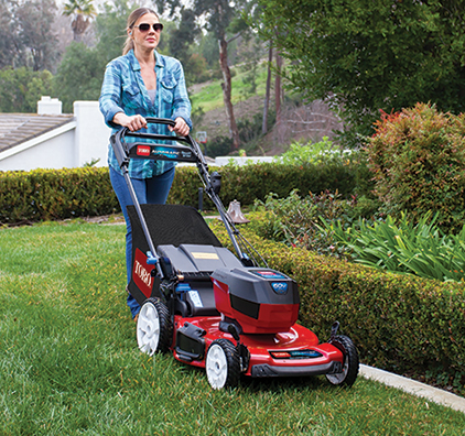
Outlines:
<svg viewBox="0 0 465 436"><path fill-rule="evenodd" d="M258 0L257 28L310 99L343 108L349 134L372 133L386 112L435 102L465 110L465 2Z"/></svg>

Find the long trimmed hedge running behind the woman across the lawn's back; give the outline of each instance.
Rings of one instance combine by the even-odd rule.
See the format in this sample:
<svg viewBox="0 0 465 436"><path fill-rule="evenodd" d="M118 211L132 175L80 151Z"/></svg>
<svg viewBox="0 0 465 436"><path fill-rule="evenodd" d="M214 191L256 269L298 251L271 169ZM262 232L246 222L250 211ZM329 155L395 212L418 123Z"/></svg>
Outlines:
<svg viewBox="0 0 465 436"><path fill-rule="evenodd" d="M279 164L224 166L220 196L225 205L234 199L242 205L264 199L270 193L280 197L299 188L306 195L336 190L348 196L355 190L357 167L352 165L318 165L302 168ZM366 176L364 176L366 177ZM359 177L358 177L359 178ZM197 207L198 188L203 187L197 168L176 170L167 203ZM204 196L204 207L213 204ZM107 167L72 170L35 170L0 172L0 224L64 219L80 216L108 215L120 211Z"/></svg>

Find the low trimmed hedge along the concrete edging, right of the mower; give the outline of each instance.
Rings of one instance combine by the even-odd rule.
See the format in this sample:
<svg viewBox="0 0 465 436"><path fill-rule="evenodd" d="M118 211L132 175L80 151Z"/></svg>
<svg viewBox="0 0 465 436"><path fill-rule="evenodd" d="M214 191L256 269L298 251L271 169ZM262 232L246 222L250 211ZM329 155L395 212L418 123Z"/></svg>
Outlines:
<svg viewBox="0 0 465 436"><path fill-rule="evenodd" d="M223 225L212 227L233 250ZM322 341L338 320L365 363L400 373L447 374L445 383L464 391L465 283L382 272L263 240L242 229L270 268L296 281L300 321Z"/></svg>

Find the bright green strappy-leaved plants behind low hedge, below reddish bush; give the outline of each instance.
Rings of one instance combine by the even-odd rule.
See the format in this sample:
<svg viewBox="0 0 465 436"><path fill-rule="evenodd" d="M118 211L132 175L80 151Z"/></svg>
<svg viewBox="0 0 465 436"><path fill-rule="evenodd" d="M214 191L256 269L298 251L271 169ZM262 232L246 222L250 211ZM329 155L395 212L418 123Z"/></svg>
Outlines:
<svg viewBox="0 0 465 436"><path fill-rule="evenodd" d="M355 262L382 270L415 274L440 281L464 282L465 226L455 236L443 235L435 225L437 214L425 214L413 224L402 214L397 221L368 225L360 219L356 228L325 221L326 231L349 250Z"/></svg>

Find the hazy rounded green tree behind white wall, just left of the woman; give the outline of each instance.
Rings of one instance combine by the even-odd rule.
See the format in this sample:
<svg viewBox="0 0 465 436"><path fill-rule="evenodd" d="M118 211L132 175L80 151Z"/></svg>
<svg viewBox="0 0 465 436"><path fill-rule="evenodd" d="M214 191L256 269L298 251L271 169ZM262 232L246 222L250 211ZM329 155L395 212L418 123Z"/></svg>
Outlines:
<svg viewBox="0 0 465 436"><path fill-rule="evenodd" d="M106 63L97 48L77 42L68 45L54 77L55 95L64 112L72 113L76 100L98 100Z"/></svg>

